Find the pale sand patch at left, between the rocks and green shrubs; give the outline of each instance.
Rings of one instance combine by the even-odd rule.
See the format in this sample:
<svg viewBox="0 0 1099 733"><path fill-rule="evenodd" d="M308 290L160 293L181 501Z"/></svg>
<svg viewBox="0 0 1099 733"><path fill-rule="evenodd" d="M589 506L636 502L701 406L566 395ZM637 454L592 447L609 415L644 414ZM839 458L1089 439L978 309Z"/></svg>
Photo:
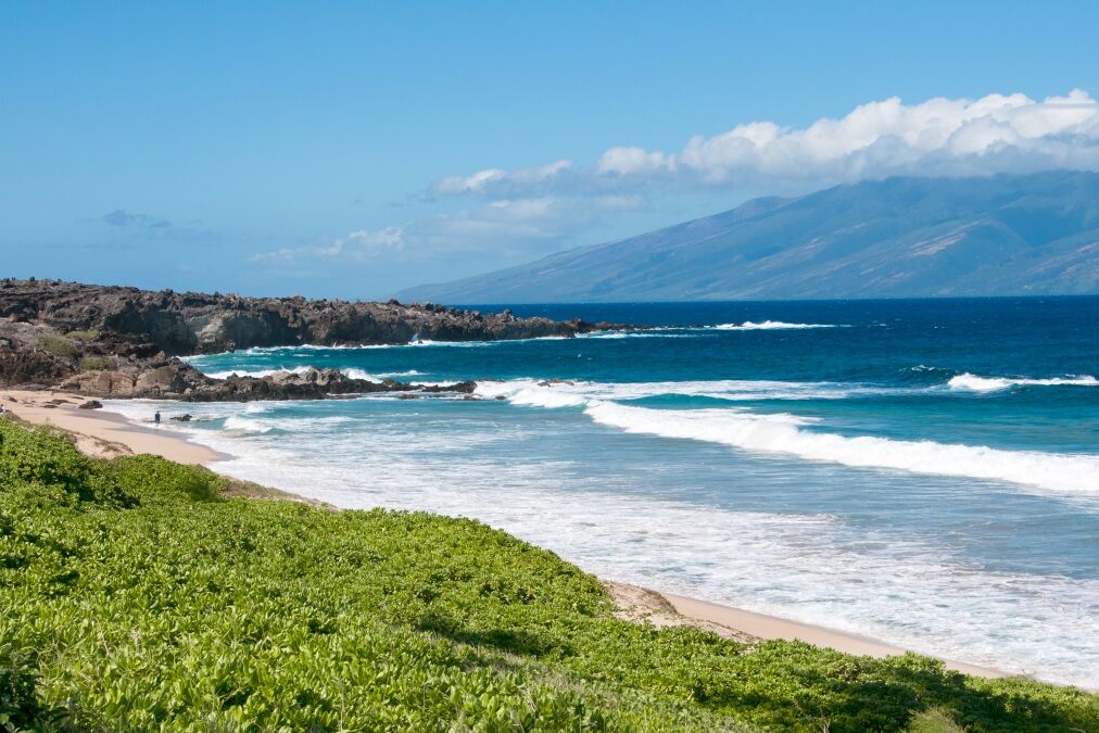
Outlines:
<svg viewBox="0 0 1099 733"><path fill-rule="evenodd" d="M15 398L18 402L9 400ZM64 400L47 407L52 400ZM184 440L166 429L143 426L104 410L80 410L87 397L53 390L0 389L0 404L16 418L38 425L53 425L73 433L77 447L100 458L152 453L181 464L208 465L224 456L217 451ZM153 415L149 414L152 421Z"/></svg>

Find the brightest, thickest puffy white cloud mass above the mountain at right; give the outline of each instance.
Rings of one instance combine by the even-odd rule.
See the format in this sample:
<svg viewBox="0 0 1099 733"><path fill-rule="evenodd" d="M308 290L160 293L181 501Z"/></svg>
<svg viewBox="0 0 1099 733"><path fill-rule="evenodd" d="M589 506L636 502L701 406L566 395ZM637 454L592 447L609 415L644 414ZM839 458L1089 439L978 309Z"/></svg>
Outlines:
<svg viewBox="0 0 1099 733"><path fill-rule="evenodd" d="M804 129L755 122L696 136L673 159L711 184L739 175L833 182L893 174L1094 168L1099 167L1099 103L1079 90L1043 101L989 95L907 105L893 97Z"/></svg>

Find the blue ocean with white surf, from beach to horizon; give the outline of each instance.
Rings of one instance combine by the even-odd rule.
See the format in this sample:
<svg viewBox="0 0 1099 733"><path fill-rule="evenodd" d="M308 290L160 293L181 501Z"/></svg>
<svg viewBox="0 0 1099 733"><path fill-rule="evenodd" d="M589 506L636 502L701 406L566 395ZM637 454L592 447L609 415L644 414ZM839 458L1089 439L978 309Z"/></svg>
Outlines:
<svg viewBox="0 0 1099 733"><path fill-rule="evenodd" d="M511 308L659 327L190 359L479 400L109 408L190 413L162 430L218 470L340 507L471 517L602 577L1099 687L1099 298Z"/></svg>

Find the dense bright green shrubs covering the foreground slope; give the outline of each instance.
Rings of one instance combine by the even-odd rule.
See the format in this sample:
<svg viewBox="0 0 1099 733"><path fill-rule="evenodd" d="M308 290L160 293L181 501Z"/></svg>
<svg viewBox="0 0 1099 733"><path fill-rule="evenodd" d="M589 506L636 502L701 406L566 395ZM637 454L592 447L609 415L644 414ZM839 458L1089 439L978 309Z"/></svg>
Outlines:
<svg viewBox="0 0 1099 733"><path fill-rule="evenodd" d="M1079 690L613 618L467 520L226 499L0 420L0 729L1096 730Z"/></svg>

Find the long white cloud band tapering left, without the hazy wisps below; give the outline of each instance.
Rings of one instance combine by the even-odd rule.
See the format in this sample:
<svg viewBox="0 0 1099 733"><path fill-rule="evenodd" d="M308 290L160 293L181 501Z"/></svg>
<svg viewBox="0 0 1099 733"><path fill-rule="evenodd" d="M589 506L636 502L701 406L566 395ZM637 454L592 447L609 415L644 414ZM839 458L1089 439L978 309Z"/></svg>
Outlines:
<svg viewBox="0 0 1099 733"><path fill-rule="evenodd" d="M585 168L565 160L515 171L492 168L465 179L444 178L434 190L500 198L524 196L524 186L557 196L614 193L651 184L766 189L768 184L818 187L891 175L1050 168L1099 169L1099 101L1085 91L1041 101L1014 93L904 104L892 97L806 127L747 122L717 135L696 135L675 153L615 146ZM570 175L562 175L566 170Z"/></svg>

